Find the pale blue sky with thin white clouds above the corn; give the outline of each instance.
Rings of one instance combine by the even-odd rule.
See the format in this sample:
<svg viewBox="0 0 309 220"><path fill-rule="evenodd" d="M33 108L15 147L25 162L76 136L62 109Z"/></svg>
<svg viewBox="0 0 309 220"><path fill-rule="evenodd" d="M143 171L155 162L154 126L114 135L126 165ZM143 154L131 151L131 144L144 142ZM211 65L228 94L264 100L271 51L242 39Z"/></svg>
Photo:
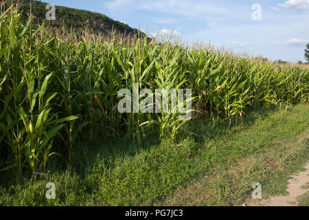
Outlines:
<svg viewBox="0 0 309 220"><path fill-rule="evenodd" d="M45 0L272 61L305 61L309 0ZM57 13L57 12L56 12Z"/></svg>

